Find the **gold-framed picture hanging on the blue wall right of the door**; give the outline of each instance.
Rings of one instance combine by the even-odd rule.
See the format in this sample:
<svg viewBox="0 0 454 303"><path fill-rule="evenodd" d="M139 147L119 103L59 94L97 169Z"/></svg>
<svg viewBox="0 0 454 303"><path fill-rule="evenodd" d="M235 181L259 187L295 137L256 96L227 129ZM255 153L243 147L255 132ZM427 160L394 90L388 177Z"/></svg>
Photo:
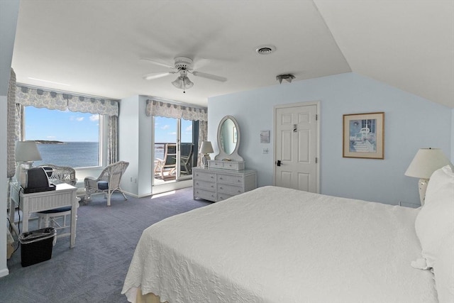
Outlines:
<svg viewBox="0 0 454 303"><path fill-rule="evenodd" d="M384 112L343 115L343 158L384 159Z"/></svg>

